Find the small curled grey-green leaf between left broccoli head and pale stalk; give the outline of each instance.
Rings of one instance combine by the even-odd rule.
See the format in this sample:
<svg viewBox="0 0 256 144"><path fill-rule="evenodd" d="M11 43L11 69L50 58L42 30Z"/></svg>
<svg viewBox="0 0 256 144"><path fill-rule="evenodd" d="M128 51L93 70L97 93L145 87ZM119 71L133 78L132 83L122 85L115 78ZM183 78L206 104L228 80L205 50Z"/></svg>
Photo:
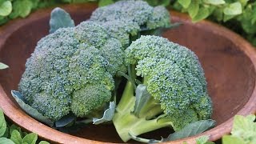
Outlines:
<svg viewBox="0 0 256 144"><path fill-rule="evenodd" d="M110 102L110 106L108 109L106 109L104 111L103 117L102 118L94 118L93 119L93 124L94 125L98 125L102 122L108 122L111 121L112 118L114 117L114 111L115 111L115 103L114 102Z"/></svg>

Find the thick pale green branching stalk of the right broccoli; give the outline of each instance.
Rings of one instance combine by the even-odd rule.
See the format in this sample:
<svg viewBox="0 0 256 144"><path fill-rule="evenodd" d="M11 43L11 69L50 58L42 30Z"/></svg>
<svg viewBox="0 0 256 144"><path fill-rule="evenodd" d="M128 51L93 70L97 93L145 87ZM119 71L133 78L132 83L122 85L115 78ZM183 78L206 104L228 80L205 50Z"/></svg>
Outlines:
<svg viewBox="0 0 256 144"><path fill-rule="evenodd" d="M130 134L138 136L172 125L168 118L161 118L163 115L158 116L162 113L162 110L159 105L155 106L154 98L151 98L146 106L142 108L139 116L133 114L135 100L134 86L131 82L127 82L112 120L122 141L130 140L132 138ZM156 116L158 117L155 118Z"/></svg>

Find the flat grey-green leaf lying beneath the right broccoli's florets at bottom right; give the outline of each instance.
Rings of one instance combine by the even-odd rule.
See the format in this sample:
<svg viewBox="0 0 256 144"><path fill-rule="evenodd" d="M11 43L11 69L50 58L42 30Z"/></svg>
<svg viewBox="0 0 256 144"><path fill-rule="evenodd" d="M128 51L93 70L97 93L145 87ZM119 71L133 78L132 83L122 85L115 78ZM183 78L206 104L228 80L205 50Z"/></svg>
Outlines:
<svg viewBox="0 0 256 144"><path fill-rule="evenodd" d="M176 131L174 134L170 134L168 138L164 138L163 142L173 141L180 138L188 138L190 136L201 134L202 132L209 130L215 126L216 121L208 119L198 122L191 122L185 126L182 130Z"/></svg>

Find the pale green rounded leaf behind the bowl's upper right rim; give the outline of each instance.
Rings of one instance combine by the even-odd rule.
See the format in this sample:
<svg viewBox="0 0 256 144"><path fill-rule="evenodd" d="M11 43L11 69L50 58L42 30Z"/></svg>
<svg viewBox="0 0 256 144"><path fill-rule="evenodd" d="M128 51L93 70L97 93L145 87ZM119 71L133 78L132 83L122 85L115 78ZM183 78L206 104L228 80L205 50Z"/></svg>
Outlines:
<svg viewBox="0 0 256 144"><path fill-rule="evenodd" d="M234 2L231 3L229 6L227 6L224 10L223 13L226 15L238 15L242 14L242 5L240 2Z"/></svg>

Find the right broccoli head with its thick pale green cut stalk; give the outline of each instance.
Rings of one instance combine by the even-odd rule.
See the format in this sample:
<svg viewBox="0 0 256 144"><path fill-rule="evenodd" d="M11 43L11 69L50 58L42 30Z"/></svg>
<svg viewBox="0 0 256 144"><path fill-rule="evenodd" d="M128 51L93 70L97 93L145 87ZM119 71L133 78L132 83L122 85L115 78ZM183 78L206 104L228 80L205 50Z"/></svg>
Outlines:
<svg viewBox="0 0 256 144"><path fill-rule="evenodd" d="M210 118L212 102L198 57L184 46L158 36L142 36L125 50L130 77L142 78L150 94L146 104L133 113L137 101L127 82L113 122L124 142L132 135L172 126L181 130L190 122Z"/></svg>

